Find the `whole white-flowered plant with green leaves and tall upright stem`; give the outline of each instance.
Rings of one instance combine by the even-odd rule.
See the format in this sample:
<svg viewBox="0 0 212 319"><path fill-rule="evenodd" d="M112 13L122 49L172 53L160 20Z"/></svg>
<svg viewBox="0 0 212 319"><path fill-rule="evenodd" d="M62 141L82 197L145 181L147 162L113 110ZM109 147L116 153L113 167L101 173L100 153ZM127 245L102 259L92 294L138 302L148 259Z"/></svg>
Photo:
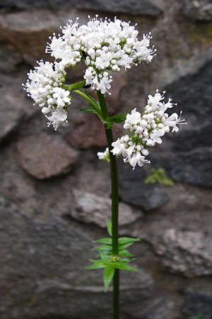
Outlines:
<svg viewBox="0 0 212 319"><path fill-rule="evenodd" d="M94 250L98 259L90 259L92 265L87 269L103 269L105 291L113 280L113 318L119 318L119 269L136 272L137 269L128 264L134 260L127 247L139 238L119 237L118 233L118 176L117 157L122 155L124 162L132 169L136 165L142 167L150 163L146 156L149 147L162 142L165 133L178 131L178 124L184 124L177 113L168 115L167 109L175 104L171 99L165 102L165 91L148 96L143 113L136 108L126 114L110 116L107 111L105 94L110 94L113 72L129 69L131 65L141 62L151 62L155 56L155 48L150 47L151 33L137 38L139 31L130 21L124 22L118 18L114 21L105 18L98 19L88 16L88 23L80 26L78 18L61 28L61 35L49 37L46 52L54 57L54 62L37 62L37 67L28 73L25 91L35 104L40 106L47 118L47 125L57 130L67 122L71 110L71 94L78 94L89 102L89 106L80 111L95 113L102 121L107 138L105 152L98 152L99 159L110 163L112 217L107 220L107 230L110 237L95 240L100 244ZM80 82L67 84L66 69L84 62L85 73ZM90 87L96 93L94 99L86 89ZM138 106L137 106L138 108ZM140 107L139 107L140 108ZM112 136L113 123L124 122L126 134L116 141Z"/></svg>

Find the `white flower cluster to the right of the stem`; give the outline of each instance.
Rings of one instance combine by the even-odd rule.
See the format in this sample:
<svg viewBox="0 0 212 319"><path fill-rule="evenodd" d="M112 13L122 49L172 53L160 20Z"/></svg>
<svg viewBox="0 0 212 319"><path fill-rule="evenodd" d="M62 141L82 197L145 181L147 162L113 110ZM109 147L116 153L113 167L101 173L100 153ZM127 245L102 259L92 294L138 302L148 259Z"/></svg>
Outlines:
<svg viewBox="0 0 212 319"><path fill-rule="evenodd" d="M161 95L158 90L154 96L148 96L148 103L144 108L143 115L134 108L131 114L127 114L124 122L124 129L129 134L118 138L112 142L113 155L122 155L124 162L129 162L133 169L138 164L140 167L143 163L149 163L145 157L149 154L148 147L155 146L155 143L161 143L161 137L170 131L177 132L178 124L186 124L181 120L181 113L178 117L177 113L169 116L165 111L176 105L171 103L171 99L165 103L164 93Z"/></svg>

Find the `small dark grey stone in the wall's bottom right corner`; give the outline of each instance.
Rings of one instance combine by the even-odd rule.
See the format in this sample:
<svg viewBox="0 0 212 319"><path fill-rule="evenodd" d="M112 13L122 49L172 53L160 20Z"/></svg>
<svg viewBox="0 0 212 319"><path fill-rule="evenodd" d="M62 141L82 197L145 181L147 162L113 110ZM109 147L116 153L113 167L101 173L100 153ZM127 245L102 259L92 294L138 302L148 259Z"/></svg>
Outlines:
<svg viewBox="0 0 212 319"><path fill-rule="evenodd" d="M182 309L187 315L202 315L204 319L212 319L212 295L187 291Z"/></svg>

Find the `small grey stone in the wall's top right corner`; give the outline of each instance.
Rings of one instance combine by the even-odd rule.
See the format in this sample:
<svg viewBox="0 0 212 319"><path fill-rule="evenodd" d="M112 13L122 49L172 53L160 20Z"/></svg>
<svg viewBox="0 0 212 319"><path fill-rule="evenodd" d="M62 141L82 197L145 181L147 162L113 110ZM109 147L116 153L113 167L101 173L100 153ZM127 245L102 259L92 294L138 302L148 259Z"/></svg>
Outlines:
<svg viewBox="0 0 212 319"><path fill-rule="evenodd" d="M183 0L182 4L184 13L192 20L211 21L211 0Z"/></svg>

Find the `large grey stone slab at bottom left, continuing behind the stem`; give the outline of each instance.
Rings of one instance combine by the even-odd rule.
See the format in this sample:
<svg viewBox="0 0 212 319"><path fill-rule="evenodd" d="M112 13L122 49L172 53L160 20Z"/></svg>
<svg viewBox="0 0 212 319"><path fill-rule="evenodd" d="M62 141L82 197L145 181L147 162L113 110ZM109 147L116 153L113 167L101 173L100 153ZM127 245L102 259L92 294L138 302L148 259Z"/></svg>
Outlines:
<svg viewBox="0 0 212 319"><path fill-rule="evenodd" d="M98 318L111 315L102 269L87 271L95 232L57 215L38 221L0 200L2 319ZM146 272L121 273L121 305L150 296Z"/></svg>

